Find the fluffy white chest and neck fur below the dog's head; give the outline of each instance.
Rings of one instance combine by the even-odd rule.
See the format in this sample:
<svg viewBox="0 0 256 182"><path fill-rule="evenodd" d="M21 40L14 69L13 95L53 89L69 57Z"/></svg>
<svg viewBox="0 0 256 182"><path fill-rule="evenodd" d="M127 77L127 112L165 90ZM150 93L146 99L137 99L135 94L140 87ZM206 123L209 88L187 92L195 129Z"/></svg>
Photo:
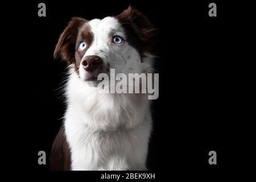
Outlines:
<svg viewBox="0 0 256 182"><path fill-rule="evenodd" d="M98 93L72 74L67 98L72 170L146 169L151 131L146 94Z"/></svg>

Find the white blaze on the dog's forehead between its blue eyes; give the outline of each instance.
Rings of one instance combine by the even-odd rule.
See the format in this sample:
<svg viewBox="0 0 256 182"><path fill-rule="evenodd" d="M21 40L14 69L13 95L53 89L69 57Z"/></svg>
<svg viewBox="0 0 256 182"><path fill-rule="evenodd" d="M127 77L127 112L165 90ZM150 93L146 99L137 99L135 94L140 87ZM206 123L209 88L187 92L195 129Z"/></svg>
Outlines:
<svg viewBox="0 0 256 182"><path fill-rule="evenodd" d="M118 35L126 39L125 31L116 18L108 16L102 20L92 19L88 24L93 33L93 42L90 48L85 52L84 57L97 55L96 51L108 48L113 35Z"/></svg>

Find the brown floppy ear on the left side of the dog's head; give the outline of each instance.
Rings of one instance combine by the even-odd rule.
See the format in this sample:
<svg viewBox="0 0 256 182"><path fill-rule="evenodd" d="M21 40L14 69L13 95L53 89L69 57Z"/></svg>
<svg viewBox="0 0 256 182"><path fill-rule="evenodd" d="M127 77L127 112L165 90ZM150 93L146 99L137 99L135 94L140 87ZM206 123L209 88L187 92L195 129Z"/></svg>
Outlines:
<svg viewBox="0 0 256 182"><path fill-rule="evenodd" d="M59 41L55 47L54 51L54 59L57 57L61 57L68 64L73 63L75 61L75 49L76 49L76 39L79 33L79 28L87 22L86 19L83 18L72 18L68 23L68 26L60 35Z"/></svg>

